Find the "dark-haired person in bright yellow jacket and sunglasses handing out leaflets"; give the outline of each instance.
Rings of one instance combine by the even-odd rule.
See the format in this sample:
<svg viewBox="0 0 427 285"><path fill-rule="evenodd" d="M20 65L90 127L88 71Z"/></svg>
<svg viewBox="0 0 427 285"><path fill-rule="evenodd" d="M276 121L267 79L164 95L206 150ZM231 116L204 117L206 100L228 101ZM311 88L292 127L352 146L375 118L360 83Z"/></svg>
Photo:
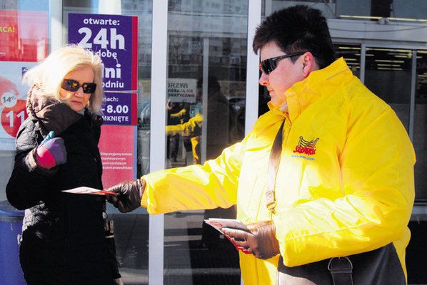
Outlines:
<svg viewBox="0 0 427 285"><path fill-rule="evenodd" d="M363 273L365 284L406 284L415 153L396 114L343 58L335 60L317 9L274 12L258 26L253 51L260 51L259 83L271 101L251 133L204 165L115 185L109 190L119 196L111 202L122 212L142 206L150 214L237 204L237 218L250 231L224 232L251 253L240 252L245 285L276 284L283 267L302 272L332 257L385 247L381 264ZM283 121L270 210L264 195L269 156ZM288 277L287 284L332 284Z"/></svg>

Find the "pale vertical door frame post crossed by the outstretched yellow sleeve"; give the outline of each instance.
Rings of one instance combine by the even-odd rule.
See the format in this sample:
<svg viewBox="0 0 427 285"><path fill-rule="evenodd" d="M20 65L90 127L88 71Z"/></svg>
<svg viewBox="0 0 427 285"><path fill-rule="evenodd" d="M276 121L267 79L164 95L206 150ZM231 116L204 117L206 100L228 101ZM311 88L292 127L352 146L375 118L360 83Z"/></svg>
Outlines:
<svg viewBox="0 0 427 285"><path fill-rule="evenodd" d="M166 159L166 71L168 1L153 1L151 62L150 172L163 170ZM160 147L159 147L160 146ZM149 217L149 284L163 284L164 214Z"/></svg>

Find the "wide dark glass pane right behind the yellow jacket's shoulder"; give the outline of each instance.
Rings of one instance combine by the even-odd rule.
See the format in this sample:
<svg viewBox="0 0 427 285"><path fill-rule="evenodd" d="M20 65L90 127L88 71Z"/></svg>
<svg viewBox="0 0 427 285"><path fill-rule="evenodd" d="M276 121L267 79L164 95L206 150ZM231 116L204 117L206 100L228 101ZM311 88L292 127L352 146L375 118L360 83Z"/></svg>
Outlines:
<svg viewBox="0 0 427 285"><path fill-rule="evenodd" d="M412 51L393 48L366 48L365 85L386 101L409 128Z"/></svg>

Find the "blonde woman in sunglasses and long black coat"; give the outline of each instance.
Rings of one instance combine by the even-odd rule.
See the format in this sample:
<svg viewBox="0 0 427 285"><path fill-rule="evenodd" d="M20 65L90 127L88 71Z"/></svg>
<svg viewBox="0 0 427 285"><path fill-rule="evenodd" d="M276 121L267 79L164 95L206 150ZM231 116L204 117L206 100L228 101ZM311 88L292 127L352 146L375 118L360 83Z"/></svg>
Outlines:
<svg viewBox="0 0 427 285"><path fill-rule="evenodd" d="M105 198L61 192L102 189L103 71L96 54L65 46L24 75L29 118L16 136L6 194L26 209L19 255L29 285L122 284L105 238Z"/></svg>

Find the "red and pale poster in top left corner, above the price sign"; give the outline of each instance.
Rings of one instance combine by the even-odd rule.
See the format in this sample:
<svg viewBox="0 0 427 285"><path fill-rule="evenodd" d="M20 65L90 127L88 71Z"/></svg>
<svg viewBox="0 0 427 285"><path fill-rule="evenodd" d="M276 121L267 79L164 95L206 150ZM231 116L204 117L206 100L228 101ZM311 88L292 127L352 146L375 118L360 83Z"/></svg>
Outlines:
<svg viewBox="0 0 427 285"><path fill-rule="evenodd" d="M0 61L41 61L47 56L45 11L0 10Z"/></svg>

